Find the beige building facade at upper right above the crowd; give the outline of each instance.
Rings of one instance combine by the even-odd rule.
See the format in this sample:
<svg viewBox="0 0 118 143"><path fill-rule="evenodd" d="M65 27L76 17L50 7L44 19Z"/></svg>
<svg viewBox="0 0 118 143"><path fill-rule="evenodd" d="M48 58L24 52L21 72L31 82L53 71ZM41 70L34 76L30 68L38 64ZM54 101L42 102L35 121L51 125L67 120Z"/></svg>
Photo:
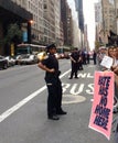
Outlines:
<svg viewBox="0 0 118 143"><path fill-rule="evenodd" d="M99 45L111 45L115 42L111 42L112 34L115 36L117 32L116 25L116 13L115 13L115 3L112 0L100 0L99 3L96 4L96 11L99 8L99 14L96 14L97 20L97 32L96 32L96 41L99 42ZM111 37L111 38L110 38Z"/></svg>

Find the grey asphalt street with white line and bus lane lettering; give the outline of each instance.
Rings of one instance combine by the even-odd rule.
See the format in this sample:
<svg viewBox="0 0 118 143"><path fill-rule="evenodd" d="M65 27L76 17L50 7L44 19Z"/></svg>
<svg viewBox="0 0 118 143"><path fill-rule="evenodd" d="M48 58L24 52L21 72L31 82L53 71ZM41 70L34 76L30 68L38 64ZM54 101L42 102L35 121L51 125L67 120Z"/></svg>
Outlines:
<svg viewBox="0 0 118 143"><path fill-rule="evenodd" d="M78 70L78 79L68 79L69 59L60 61L63 109L58 121L47 120L47 91L44 72L37 65L0 70L0 143L112 143L88 128L94 94L90 61Z"/></svg>

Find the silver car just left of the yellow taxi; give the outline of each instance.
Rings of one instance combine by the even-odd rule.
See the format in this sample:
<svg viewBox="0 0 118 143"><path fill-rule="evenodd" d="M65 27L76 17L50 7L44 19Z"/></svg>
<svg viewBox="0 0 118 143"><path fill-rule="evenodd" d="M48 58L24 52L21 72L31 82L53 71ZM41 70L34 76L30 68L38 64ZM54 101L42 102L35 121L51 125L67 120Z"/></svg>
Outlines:
<svg viewBox="0 0 118 143"><path fill-rule="evenodd" d="M19 55L17 63L18 63L18 65L36 64L37 57L36 57L36 55L32 55L32 54Z"/></svg>

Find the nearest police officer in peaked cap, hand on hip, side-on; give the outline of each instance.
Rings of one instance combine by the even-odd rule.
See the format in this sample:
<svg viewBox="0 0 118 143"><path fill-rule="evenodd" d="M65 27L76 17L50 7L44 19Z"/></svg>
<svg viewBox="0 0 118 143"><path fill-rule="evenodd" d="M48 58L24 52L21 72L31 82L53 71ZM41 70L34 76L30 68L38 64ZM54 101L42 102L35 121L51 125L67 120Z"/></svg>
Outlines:
<svg viewBox="0 0 118 143"><path fill-rule="evenodd" d="M62 110L62 82L60 80L58 61L55 57L56 46L51 44L46 47L47 57L39 63L39 67L45 70L45 82L47 86L47 118L58 120L58 114L66 114Z"/></svg>

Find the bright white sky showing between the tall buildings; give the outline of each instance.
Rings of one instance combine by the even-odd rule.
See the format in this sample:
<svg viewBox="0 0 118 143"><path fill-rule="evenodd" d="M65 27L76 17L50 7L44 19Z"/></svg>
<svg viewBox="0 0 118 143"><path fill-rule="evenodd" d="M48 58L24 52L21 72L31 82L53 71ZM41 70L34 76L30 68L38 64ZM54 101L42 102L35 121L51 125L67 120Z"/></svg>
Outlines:
<svg viewBox="0 0 118 143"><path fill-rule="evenodd" d="M67 0L69 8L72 9L72 13L74 20L77 22L77 13L75 12L75 2L74 0ZM98 0L83 0L83 12L84 12L84 21L87 24L88 29L88 42L90 50L95 48L95 9L94 3L98 2Z"/></svg>

